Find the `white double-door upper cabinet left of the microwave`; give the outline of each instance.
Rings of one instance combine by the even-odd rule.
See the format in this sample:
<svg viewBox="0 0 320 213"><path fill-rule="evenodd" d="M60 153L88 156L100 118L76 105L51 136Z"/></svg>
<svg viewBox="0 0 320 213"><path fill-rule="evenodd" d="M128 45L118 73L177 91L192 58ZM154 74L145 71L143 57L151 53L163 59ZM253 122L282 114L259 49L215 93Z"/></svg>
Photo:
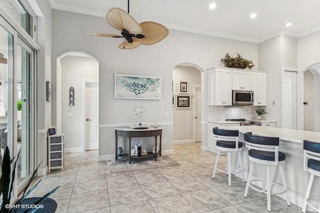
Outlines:
<svg viewBox="0 0 320 213"><path fill-rule="evenodd" d="M215 68L208 71L208 105L232 105L232 71Z"/></svg>

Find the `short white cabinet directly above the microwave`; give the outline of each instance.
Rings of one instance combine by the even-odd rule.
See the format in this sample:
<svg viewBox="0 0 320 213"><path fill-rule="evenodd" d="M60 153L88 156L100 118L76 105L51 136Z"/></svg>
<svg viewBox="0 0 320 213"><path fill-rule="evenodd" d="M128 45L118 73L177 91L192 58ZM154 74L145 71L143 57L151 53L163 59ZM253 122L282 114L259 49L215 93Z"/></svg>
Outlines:
<svg viewBox="0 0 320 213"><path fill-rule="evenodd" d="M251 71L232 70L232 89L251 90Z"/></svg>

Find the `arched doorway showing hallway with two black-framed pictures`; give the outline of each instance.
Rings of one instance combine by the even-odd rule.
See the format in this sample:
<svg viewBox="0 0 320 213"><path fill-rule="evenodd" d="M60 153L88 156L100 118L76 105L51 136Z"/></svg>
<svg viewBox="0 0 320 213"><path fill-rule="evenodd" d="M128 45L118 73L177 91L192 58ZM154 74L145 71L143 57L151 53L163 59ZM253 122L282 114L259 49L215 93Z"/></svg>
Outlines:
<svg viewBox="0 0 320 213"><path fill-rule="evenodd" d="M180 63L172 68L173 144L202 141L203 71L194 63Z"/></svg>

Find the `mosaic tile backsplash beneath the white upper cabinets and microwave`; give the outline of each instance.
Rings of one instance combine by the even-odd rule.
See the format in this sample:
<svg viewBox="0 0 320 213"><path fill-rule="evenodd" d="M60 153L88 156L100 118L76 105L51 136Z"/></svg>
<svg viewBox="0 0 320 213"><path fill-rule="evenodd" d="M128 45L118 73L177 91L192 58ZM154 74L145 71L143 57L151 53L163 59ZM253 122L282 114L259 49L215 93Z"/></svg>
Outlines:
<svg viewBox="0 0 320 213"><path fill-rule="evenodd" d="M265 108L261 106L208 106L208 120L225 119L256 119L256 108Z"/></svg>

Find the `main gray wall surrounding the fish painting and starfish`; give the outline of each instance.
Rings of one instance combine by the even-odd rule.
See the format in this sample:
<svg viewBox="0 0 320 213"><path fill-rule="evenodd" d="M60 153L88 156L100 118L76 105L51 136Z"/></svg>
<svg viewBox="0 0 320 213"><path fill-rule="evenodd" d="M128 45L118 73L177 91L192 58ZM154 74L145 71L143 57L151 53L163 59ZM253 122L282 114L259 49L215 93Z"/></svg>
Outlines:
<svg viewBox="0 0 320 213"><path fill-rule="evenodd" d="M88 36L88 32L118 33L105 18L53 9L52 22L52 80L56 78L56 58L69 51L92 55L99 61L99 155L112 158L114 154L114 127L118 123L153 122L172 123L172 68L190 62L202 69L219 65L227 52L241 53L252 58L258 69L256 43L169 30L159 43L123 50L117 46L121 38ZM114 99L114 74L136 74L161 77L161 100ZM133 107L141 105L142 116L133 115ZM55 124L55 102L52 121ZM165 113L168 113L168 117ZM163 149L172 149L172 124L164 126Z"/></svg>

